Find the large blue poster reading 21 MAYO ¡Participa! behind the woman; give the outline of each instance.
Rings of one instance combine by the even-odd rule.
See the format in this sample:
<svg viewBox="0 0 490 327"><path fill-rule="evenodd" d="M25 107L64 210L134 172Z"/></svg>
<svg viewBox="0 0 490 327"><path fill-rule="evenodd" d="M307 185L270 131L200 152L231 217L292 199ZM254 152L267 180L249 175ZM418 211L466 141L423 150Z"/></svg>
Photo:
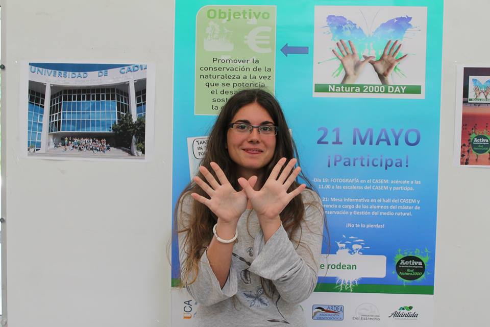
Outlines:
<svg viewBox="0 0 490 327"><path fill-rule="evenodd" d="M173 205L226 100L274 92L330 233L308 326L432 323L442 14L442 0L176 2ZM486 99L490 71L472 76ZM178 258L174 235L173 285ZM172 324L198 316L174 290Z"/></svg>

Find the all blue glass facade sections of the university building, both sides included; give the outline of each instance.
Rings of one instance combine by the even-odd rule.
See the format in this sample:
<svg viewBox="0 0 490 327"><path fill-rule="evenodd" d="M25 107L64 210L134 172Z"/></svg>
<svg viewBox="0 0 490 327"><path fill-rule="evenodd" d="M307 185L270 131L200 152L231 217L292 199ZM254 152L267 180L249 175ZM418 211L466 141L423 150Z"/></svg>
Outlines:
<svg viewBox="0 0 490 327"><path fill-rule="evenodd" d="M136 111L136 117L133 117L136 119L144 118L146 114L146 88L135 92L136 108L131 108L128 92L120 89L129 88L127 83L112 87L89 86L65 89L53 86L49 119L43 131L45 94L37 91L42 90L42 87L43 85L39 83L39 85L30 85L29 88L28 149L32 147L36 151L41 149L43 133L50 134L46 145L48 147L58 144L60 137L64 138L66 135L83 137L84 132L91 137L94 137L94 133L109 133L101 136L112 137L114 135L112 126L119 122L122 116Z"/></svg>

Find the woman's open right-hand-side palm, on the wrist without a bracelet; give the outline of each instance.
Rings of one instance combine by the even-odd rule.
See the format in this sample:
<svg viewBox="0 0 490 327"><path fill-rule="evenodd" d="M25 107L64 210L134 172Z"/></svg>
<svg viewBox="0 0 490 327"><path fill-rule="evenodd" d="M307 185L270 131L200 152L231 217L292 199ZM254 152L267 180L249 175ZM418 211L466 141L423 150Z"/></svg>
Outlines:
<svg viewBox="0 0 490 327"><path fill-rule="evenodd" d="M295 158L289 160L286 167L279 174L281 168L286 163L286 158L281 158L259 191L253 189L250 179L247 181L245 178L238 178L238 182L247 193L247 197L261 222L276 219L292 198L306 188L305 184L301 184L295 190L287 193L289 186L296 180L296 177L301 171L300 167L293 170L296 161Z"/></svg>

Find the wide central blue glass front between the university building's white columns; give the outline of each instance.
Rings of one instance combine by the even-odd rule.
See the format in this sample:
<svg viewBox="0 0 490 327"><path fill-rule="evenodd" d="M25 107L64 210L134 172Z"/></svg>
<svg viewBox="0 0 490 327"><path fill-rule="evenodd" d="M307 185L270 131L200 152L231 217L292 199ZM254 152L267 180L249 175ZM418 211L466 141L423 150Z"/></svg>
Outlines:
<svg viewBox="0 0 490 327"><path fill-rule="evenodd" d="M61 90L50 108L50 133L110 132L130 112L128 93L113 87Z"/></svg>

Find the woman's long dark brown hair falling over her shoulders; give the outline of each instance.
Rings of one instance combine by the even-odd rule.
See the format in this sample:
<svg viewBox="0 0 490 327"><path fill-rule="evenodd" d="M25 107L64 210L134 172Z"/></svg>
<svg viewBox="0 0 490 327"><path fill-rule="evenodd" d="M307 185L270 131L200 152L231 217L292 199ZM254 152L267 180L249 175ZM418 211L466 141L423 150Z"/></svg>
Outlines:
<svg viewBox="0 0 490 327"><path fill-rule="evenodd" d="M264 172L262 174L263 180L259 180L257 181L257 183L263 184L265 182L265 179L271 174L272 169L282 157L285 157L288 160L291 158L297 158L298 165L300 165L295 142L291 137L286 119L284 118L281 106L279 105L276 98L263 89L241 90L233 95L230 99L228 99L228 102L223 106L221 112L219 113L216 122L214 123L209 134L206 154L201 161L201 165L206 167L215 178L216 175L211 169L210 162L216 162L216 164L218 164L219 167L223 170L235 190L241 189L241 186L238 184L237 181L237 179L241 176L237 176L236 164L230 158L228 150L226 148L227 131L228 126L230 125L231 120L233 119L237 111L243 106L251 103L257 103L262 106L268 112L268 114L271 115L271 118L273 119L275 125L278 126L274 156L271 161L262 168ZM203 180L206 180L200 172L198 172L197 176L201 177L201 179ZM313 185L303 174L303 172L300 173L299 177L304 183L306 183L309 189L314 190ZM297 181L293 182L288 192L296 189L299 185L300 183L298 183ZM217 221L216 215L214 215L206 205L198 201L191 202L192 205L190 208L190 218L188 223L182 224L182 222L179 221L179 217L177 217L177 214L182 210L183 197L190 197L190 193L192 192L200 194L204 197L208 197L208 195L200 188L200 186L191 181L186 186L184 191L182 191L176 205L176 209L174 212L174 226L175 228L177 228L177 233L185 233L185 240L183 242L184 246L181 250L184 250L184 248L187 249L186 259L184 260L184 262L180 263L181 286L192 284L195 281L199 269L198 262L204 250L211 242L211 239L213 237L212 228ZM318 209L322 213L324 213L322 207L319 207ZM281 221L283 223L284 229L289 236L289 239L291 239L295 231L301 228L300 223L304 219L304 214L305 204L303 203L300 196L293 198L281 212ZM320 231L320 233L321 232L322 231ZM297 246L300 246L301 244L301 232L299 233L299 235L299 239L292 240L297 244ZM268 284L269 286L271 286L269 287L269 289L274 292L272 283Z"/></svg>

